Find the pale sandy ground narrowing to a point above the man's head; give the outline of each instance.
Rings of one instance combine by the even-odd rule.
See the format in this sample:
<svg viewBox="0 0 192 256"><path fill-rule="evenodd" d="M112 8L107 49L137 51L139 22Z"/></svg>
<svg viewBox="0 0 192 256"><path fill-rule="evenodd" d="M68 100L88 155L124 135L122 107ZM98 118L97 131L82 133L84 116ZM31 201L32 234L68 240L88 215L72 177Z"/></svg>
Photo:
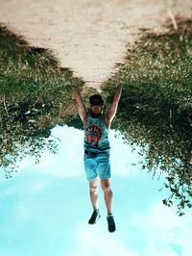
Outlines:
<svg viewBox="0 0 192 256"><path fill-rule="evenodd" d="M140 28L161 31L174 15L192 16L191 0L0 0L0 22L30 45L50 48L87 86L122 63Z"/></svg>

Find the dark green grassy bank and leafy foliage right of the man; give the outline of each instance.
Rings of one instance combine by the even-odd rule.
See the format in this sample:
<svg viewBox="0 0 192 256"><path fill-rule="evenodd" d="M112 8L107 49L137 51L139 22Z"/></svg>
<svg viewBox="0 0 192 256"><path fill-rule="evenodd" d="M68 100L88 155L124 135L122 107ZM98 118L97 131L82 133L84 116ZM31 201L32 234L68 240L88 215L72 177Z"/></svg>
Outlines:
<svg viewBox="0 0 192 256"><path fill-rule="evenodd" d="M192 195L192 20L177 22L177 31L145 32L104 90L123 86L114 127L141 147L142 168L167 177L171 195L163 203L179 199L182 215Z"/></svg>

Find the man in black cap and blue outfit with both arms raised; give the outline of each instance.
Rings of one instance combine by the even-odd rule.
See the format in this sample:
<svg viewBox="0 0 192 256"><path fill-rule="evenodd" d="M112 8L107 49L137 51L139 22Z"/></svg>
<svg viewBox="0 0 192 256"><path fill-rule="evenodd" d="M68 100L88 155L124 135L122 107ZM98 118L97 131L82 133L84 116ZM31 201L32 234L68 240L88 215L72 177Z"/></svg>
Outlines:
<svg viewBox="0 0 192 256"><path fill-rule="evenodd" d="M78 113L84 123L84 169L89 182L90 200L93 213L88 220L94 224L100 218L98 210L98 175L104 192L108 210L108 231L115 231L115 222L111 211L112 192L110 190L110 164L108 129L114 118L122 88L119 86L107 113L103 113L104 102L99 94L89 97L90 111L87 113L80 90L75 90Z"/></svg>

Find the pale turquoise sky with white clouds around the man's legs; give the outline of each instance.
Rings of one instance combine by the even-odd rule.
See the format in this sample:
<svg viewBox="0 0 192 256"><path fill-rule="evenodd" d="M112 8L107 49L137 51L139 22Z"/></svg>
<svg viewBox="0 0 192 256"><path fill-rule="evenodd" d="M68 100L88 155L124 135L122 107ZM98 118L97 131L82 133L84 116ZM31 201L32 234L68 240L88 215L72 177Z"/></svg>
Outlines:
<svg viewBox="0 0 192 256"><path fill-rule="evenodd" d="M136 152L110 131L111 185L117 230L108 233L100 190L102 218L88 225L92 209L84 175L83 131L56 127L59 154L44 152L19 164L6 180L1 171L0 255L3 256L190 256L192 214L176 215L167 195L140 166Z"/></svg>

